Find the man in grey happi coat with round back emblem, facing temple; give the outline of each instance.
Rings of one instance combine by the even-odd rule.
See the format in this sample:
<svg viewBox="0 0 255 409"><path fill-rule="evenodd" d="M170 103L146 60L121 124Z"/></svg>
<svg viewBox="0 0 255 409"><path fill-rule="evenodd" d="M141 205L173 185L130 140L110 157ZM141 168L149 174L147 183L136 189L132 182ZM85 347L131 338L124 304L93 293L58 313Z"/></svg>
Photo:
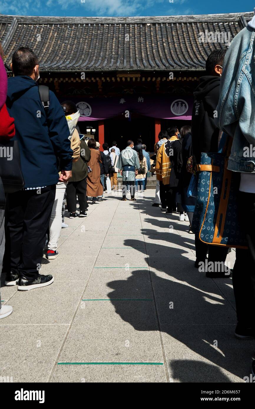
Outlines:
<svg viewBox="0 0 255 409"><path fill-rule="evenodd" d="M134 151L133 141L127 142L128 146L121 151L116 167L121 169L122 174L122 200L126 200L128 185L130 185L131 200L135 199L135 175L140 169L138 153Z"/></svg>

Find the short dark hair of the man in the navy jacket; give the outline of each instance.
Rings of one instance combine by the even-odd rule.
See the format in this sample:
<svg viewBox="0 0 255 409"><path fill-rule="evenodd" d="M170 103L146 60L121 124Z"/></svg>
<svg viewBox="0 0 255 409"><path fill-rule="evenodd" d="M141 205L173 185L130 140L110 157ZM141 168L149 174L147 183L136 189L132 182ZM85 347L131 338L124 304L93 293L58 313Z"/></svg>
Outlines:
<svg viewBox="0 0 255 409"><path fill-rule="evenodd" d="M29 47L18 48L12 56L12 69L15 75L30 76L34 67L39 65L38 56Z"/></svg>

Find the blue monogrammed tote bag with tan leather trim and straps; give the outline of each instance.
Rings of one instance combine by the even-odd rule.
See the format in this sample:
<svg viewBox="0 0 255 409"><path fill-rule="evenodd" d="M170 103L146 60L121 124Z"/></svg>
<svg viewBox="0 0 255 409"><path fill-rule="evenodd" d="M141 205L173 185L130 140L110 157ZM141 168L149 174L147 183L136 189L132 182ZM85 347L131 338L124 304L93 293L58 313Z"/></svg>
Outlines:
<svg viewBox="0 0 255 409"><path fill-rule="evenodd" d="M223 134L219 152L202 153L196 165L192 231L206 244L247 249L237 216L240 175L227 169L231 144L231 138Z"/></svg>

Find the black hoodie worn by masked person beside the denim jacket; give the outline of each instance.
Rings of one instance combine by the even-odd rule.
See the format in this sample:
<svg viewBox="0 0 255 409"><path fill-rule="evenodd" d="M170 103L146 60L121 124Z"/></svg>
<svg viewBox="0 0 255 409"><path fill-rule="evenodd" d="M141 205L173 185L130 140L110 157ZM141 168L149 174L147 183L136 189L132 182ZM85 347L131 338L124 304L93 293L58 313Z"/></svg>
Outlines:
<svg viewBox="0 0 255 409"><path fill-rule="evenodd" d="M194 91L191 132L194 164L200 163L202 152L218 151L219 129L214 124L214 116L219 102L219 85L219 76L202 76Z"/></svg>

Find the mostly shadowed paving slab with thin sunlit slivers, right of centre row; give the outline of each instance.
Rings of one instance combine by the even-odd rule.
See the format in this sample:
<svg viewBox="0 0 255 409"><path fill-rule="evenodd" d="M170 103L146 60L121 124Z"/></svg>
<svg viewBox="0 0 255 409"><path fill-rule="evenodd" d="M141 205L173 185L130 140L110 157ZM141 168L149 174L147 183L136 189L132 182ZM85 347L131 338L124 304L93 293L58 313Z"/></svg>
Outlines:
<svg viewBox="0 0 255 409"><path fill-rule="evenodd" d="M160 324L236 324L235 310L210 279L188 283L152 274Z"/></svg>

